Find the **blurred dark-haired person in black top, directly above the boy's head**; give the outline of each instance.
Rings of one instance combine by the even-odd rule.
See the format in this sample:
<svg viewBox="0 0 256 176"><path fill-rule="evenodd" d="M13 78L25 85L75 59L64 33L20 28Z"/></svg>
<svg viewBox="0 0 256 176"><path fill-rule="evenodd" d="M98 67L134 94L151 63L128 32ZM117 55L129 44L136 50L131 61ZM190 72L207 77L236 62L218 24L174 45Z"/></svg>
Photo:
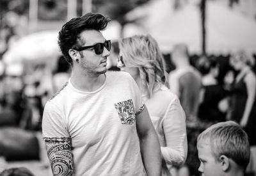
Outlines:
<svg viewBox="0 0 256 176"><path fill-rule="evenodd" d="M226 120L227 106L221 106L227 102L227 92L216 79L219 73L219 65L216 60L202 57L198 60L198 70L202 74L202 92L198 118L204 122L205 127Z"/></svg>

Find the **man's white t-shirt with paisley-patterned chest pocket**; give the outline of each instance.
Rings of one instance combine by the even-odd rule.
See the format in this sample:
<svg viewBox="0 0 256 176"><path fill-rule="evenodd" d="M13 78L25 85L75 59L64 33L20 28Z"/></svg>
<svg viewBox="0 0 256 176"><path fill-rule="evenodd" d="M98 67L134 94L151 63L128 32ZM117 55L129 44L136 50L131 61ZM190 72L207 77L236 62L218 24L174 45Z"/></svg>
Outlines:
<svg viewBox="0 0 256 176"><path fill-rule="evenodd" d="M95 92L69 80L45 105L43 138L71 138L74 175L146 175L136 131L141 107L140 90L125 72L106 72Z"/></svg>

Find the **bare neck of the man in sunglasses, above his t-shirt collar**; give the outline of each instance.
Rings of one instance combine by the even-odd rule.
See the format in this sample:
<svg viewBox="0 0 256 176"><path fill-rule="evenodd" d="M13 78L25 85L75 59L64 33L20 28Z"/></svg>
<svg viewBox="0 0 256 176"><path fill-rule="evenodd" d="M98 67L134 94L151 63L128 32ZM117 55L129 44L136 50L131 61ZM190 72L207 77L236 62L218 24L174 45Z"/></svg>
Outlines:
<svg viewBox="0 0 256 176"><path fill-rule="evenodd" d="M94 92L105 82L105 74L92 75L88 73L73 72L70 79L72 85L83 92Z"/></svg>

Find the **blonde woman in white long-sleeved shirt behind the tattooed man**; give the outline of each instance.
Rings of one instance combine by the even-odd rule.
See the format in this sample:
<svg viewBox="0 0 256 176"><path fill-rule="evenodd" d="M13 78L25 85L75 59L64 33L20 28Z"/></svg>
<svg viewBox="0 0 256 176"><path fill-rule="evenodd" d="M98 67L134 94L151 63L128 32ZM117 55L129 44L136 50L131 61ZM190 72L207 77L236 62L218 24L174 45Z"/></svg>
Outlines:
<svg viewBox="0 0 256 176"><path fill-rule="evenodd" d="M118 67L134 78L148 107L162 154L162 175L171 175L187 156L186 117L177 96L168 89L168 74L156 40L136 35L119 42Z"/></svg>

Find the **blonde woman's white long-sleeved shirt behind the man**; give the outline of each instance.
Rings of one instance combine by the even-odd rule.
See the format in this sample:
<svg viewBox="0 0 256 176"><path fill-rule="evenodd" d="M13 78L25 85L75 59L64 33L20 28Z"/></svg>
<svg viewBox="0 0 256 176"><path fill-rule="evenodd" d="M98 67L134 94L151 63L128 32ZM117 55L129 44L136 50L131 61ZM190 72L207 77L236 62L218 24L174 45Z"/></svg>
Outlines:
<svg viewBox="0 0 256 176"><path fill-rule="evenodd" d="M162 175L170 175L172 165L185 162L188 152L186 116L177 95L164 85L153 93L150 99L143 96L148 113L154 125L161 153L167 165L162 167ZM167 166L167 167L165 167Z"/></svg>

